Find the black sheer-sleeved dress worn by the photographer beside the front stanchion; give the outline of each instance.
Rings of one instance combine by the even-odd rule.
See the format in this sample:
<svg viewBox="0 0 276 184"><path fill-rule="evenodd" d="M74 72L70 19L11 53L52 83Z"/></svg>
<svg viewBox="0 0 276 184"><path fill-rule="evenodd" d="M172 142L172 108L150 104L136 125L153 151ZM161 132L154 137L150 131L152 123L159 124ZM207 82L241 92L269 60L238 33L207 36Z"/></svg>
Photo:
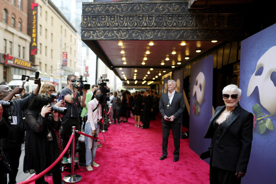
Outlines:
<svg viewBox="0 0 276 184"><path fill-rule="evenodd" d="M46 115L48 116L48 115ZM45 116L45 117L46 117ZM41 173L50 166L60 155L57 146L57 137L54 130L59 130L61 121L47 119L41 114L34 114L33 111L26 112L26 141L25 156L23 163L24 173ZM48 141L48 132L51 132L52 141ZM53 168L52 172L60 171L60 162Z"/></svg>

